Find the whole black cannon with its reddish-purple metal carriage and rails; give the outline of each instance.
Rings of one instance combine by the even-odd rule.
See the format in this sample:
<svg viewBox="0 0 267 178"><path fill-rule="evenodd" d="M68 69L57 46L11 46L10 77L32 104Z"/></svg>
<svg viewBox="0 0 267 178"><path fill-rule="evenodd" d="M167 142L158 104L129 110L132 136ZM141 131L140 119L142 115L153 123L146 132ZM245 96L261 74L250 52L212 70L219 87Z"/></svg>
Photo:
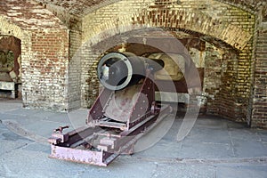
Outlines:
<svg viewBox="0 0 267 178"><path fill-rule="evenodd" d="M108 53L97 66L103 89L85 126L64 134L54 130L50 158L108 166L120 154L133 154L134 144L158 125L172 108L155 101L153 74L164 61L134 53Z"/></svg>

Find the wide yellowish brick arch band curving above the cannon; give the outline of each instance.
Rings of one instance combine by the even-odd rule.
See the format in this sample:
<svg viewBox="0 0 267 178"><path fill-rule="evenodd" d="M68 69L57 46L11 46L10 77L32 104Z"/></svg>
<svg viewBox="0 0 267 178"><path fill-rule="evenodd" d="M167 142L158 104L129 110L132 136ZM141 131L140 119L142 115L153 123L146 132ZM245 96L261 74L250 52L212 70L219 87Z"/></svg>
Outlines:
<svg viewBox="0 0 267 178"><path fill-rule="evenodd" d="M213 36L232 47L242 50L252 34L236 25L217 20L200 12L180 10L149 10L134 15L125 15L93 27L92 36L86 36L91 44L119 33L138 28L182 28L206 36ZM234 34L234 35L233 35Z"/></svg>

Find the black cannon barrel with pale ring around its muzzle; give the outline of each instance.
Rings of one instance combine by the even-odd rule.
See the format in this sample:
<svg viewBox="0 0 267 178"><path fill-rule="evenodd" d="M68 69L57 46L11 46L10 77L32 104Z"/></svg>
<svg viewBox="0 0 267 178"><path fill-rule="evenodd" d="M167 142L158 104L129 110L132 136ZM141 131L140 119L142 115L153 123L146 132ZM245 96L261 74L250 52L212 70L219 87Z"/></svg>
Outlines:
<svg viewBox="0 0 267 178"><path fill-rule="evenodd" d="M97 76L101 85L109 90L122 90L136 85L146 76L147 69L156 72L164 68L164 61L144 58L134 53L108 53L97 66Z"/></svg>

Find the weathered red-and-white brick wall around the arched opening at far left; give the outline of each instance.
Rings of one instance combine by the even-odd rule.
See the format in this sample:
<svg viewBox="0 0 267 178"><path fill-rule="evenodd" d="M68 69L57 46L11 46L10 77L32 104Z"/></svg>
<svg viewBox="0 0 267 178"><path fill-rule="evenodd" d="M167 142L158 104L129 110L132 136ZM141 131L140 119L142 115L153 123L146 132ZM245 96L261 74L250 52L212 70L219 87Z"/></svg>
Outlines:
<svg viewBox="0 0 267 178"><path fill-rule="evenodd" d="M69 30L33 1L0 4L1 35L21 40L24 107L68 109Z"/></svg>

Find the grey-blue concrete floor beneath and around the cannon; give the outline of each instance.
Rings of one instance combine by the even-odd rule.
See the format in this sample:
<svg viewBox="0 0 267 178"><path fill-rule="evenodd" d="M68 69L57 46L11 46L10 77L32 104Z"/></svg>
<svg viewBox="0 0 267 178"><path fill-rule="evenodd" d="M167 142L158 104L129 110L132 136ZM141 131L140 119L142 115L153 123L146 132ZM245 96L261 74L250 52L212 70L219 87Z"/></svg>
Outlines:
<svg viewBox="0 0 267 178"><path fill-rule="evenodd" d="M119 156L108 167L48 158L46 140L53 129L84 125L86 114L86 109L56 113L0 101L0 177L267 177L267 130L210 116L198 117L182 142L177 142L182 116L176 117L167 134L146 135L136 146L142 151ZM166 130L169 123L166 119L154 130ZM159 141L144 149L151 138Z"/></svg>

